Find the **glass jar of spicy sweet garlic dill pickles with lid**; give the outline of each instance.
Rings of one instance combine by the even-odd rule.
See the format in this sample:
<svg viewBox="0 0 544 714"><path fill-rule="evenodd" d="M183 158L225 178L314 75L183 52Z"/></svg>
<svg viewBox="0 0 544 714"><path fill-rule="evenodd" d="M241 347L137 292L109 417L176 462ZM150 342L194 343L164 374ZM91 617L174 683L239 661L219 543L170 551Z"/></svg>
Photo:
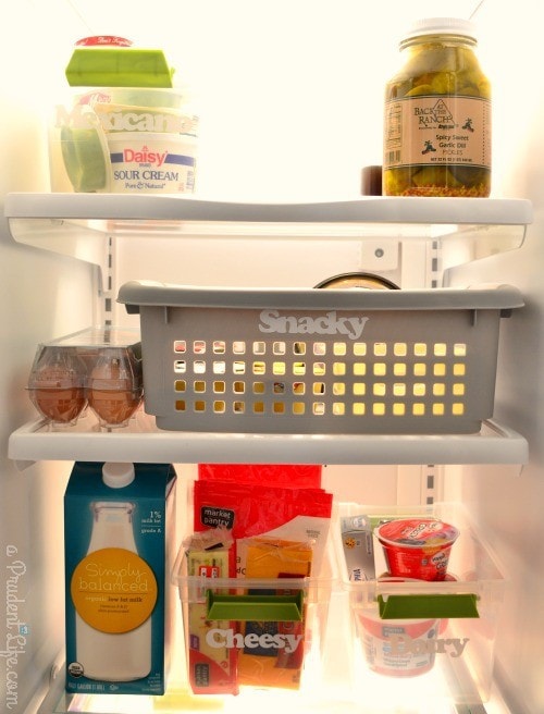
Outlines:
<svg viewBox="0 0 544 714"><path fill-rule="evenodd" d="M385 91L383 194L491 192L491 87L474 52L474 25L418 21L400 41L403 69Z"/></svg>

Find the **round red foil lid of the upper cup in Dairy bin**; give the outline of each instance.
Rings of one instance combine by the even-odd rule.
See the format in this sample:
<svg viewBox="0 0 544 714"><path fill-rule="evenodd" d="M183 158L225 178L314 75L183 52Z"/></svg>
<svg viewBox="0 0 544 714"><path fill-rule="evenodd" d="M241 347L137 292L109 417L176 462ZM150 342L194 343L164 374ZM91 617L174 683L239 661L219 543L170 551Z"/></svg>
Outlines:
<svg viewBox="0 0 544 714"><path fill-rule="evenodd" d="M441 549L459 536L455 526L435 518L399 518L375 529L380 542L400 549Z"/></svg>

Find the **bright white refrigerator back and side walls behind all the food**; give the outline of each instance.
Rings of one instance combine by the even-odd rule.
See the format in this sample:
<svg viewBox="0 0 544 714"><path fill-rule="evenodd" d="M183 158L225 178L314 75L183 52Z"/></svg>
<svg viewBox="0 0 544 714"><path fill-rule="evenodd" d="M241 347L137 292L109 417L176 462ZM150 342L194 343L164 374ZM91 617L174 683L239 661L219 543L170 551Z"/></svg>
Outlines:
<svg viewBox="0 0 544 714"><path fill-rule="evenodd" d="M2 200L13 192L49 189L50 110L65 90L63 71L73 42L98 33L128 36L143 45L164 48L177 72L197 87L202 118L199 197L263 202L355 198L361 168L381 163L382 91L398 62L396 38L410 19L447 15L450 10L450 3L445 2L390 1L369 13L363 3L347 0L156 2L152 13L148 5L125 2L12 3L2 9L4 22L0 23L3 66L10 69L3 74L0 100ZM198 235L184 243L181 255L163 237L154 246L153 261L134 242L121 239L115 247L112 278L113 287L129 279L311 287L336 273L367 268L397 280L404 287L440 280L444 285L459 287L505 282L522 291L526 307L500 327L496 416L528 440L528 464L522 468L496 464L327 465L324 487L339 501L390 505L434 500L467 505L511 580L495 648L497 687L481 711L533 714L544 706L544 685L537 667L544 632L540 606L544 579L539 576L544 565L539 545L544 528L537 508L544 496L540 439L544 393L539 370L544 305L539 271L539 156L543 148L540 126L544 101L534 81L541 53L542 11L537 3L522 0L516 5L516 14L509 16L492 0L473 0L456 3L456 13L466 17L473 14L479 22L479 53L493 83L492 196L529 198L533 204L534 221L520 249L459 266L442 275L430 270L426 249L417 245L410 248L413 255L405 253L399 261L398 250L378 256L375 246L368 243L355 249L345 242L332 253L322 249L308 255L308 242L301 241L282 258L275 242L264 236L259 244L251 245L247 239L235 244L238 250L248 251L245 255L256 266L248 275L230 241L210 241L213 259L202 260ZM2 222L0 251L4 404L0 424L5 444L0 530L7 593L14 599L8 612L7 595L7 618L2 618L0 630L5 643L0 648L5 663L0 709L34 714L50 678L63 666L60 544L62 496L72 464L40 461L18 470L8 457L7 444L14 430L35 417L25 385L36 345L100 320L103 295L95 299L100 292L100 275L94 266L15 244L7 221ZM169 255L175 255L176 260L165 263L163 257ZM121 306L114 309L118 322L135 322ZM184 478L195 473L195 465L180 465L178 469ZM183 497L180 502L183 504ZM184 518L183 507L180 518ZM20 628L15 640L14 624ZM330 629L329 684L331 691L338 693L343 691L344 667L353 663L335 656L344 650L341 626ZM62 673L53 681L48 700L51 709L40 711L55 711L61 682ZM399 709L391 711L456 711L447 702L434 702L432 710L425 709L424 702L412 699L415 690L401 692ZM405 709L407 701L409 709ZM114 712L115 705L95 701L90 711ZM125 700L120 705L137 711L134 701ZM146 711L145 702L138 701L137 705ZM246 704L248 709L256 705L263 709L262 698L249 699ZM267 704L271 710L289 705L282 698L271 698ZM381 711L379 704L373 705L372 711ZM380 700L380 705L384 713L388 711L387 702ZM77 706L79 703L73 711ZM210 711L214 706L210 703ZM240 701L225 701L223 706L225 712L240 711ZM331 710L331 699L325 697L322 706L322 711L339 712L343 706L346 712L367 711L364 702L354 704L342 698Z"/></svg>

